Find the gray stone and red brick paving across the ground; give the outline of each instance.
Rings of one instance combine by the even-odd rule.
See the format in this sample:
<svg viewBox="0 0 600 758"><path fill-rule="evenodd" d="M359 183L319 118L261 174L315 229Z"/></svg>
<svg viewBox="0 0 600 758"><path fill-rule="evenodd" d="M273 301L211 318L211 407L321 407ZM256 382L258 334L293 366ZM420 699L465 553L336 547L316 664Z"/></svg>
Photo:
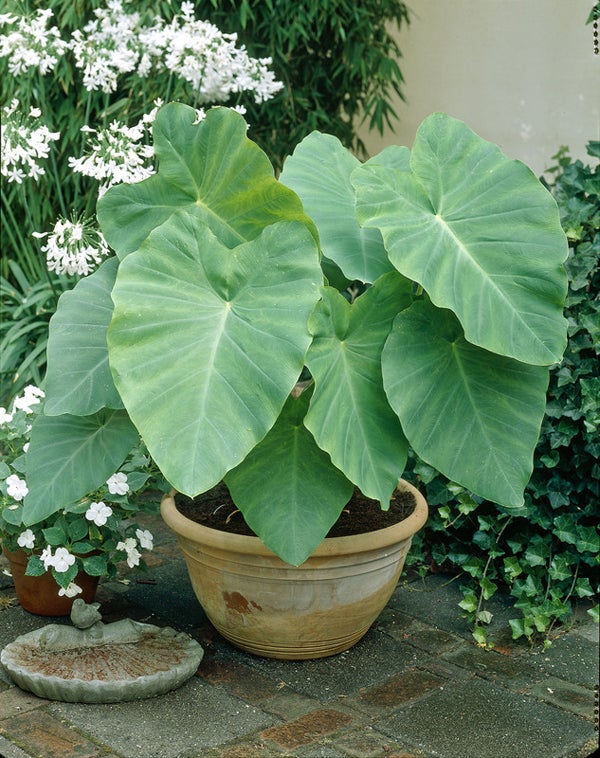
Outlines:
<svg viewBox="0 0 600 758"><path fill-rule="evenodd" d="M530 649L507 638L500 599L487 651L470 638L456 582L405 578L354 648L262 659L215 632L173 535L148 520L148 574L101 584L104 620L191 634L205 650L196 675L158 698L83 705L42 700L0 672L2 758L584 758L597 747L598 628L585 614L549 650ZM49 623L13 598L0 574L0 648Z"/></svg>

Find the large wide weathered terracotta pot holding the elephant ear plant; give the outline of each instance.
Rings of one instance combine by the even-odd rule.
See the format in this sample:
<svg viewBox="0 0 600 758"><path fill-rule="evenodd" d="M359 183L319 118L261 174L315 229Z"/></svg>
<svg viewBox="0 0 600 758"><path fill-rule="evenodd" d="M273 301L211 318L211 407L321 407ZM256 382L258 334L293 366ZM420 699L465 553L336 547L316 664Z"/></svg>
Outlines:
<svg viewBox="0 0 600 758"><path fill-rule="evenodd" d="M194 592L216 629L266 658L322 658L363 637L394 591L427 503L407 482L416 509L385 529L326 538L301 566L284 563L258 537L210 529L176 508L161 513L177 534Z"/></svg>

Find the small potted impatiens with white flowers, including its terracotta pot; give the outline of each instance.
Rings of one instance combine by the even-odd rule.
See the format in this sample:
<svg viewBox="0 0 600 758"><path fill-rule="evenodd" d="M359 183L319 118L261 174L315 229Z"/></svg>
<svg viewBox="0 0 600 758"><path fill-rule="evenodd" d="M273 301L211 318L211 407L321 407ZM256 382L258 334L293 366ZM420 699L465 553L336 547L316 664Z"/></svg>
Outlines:
<svg viewBox="0 0 600 758"><path fill-rule="evenodd" d="M44 392L29 385L10 411L0 408L0 542L22 607L65 616L76 597L92 602L100 579L114 578L117 564L144 566L153 538L132 516L156 505L130 502L149 477L149 459L137 447L93 492L25 525L26 451L43 401Z"/></svg>

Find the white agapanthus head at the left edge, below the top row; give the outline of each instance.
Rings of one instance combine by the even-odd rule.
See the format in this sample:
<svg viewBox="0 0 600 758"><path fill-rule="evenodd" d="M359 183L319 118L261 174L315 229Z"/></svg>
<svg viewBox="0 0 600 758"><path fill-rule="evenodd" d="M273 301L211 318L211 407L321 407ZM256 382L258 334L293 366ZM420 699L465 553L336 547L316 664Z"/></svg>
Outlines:
<svg viewBox="0 0 600 758"><path fill-rule="evenodd" d="M35 181L45 173L39 161L48 157L50 143L59 139L60 134L39 124L40 116L39 108L22 114L16 99L2 109L0 172L9 182L21 184L27 177Z"/></svg>

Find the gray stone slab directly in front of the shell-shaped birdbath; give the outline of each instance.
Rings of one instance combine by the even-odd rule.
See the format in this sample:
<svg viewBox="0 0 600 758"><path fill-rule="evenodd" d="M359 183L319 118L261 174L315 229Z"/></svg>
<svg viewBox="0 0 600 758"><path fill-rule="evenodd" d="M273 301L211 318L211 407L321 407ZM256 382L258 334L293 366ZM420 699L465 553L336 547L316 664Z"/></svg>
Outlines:
<svg viewBox="0 0 600 758"><path fill-rule="evenodd" d="M123 758L188 758L223 745L276 719L222 688L192 678L149 700L106 705L55 703L47 708Z"/></svg>

